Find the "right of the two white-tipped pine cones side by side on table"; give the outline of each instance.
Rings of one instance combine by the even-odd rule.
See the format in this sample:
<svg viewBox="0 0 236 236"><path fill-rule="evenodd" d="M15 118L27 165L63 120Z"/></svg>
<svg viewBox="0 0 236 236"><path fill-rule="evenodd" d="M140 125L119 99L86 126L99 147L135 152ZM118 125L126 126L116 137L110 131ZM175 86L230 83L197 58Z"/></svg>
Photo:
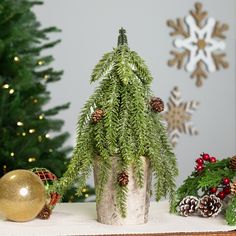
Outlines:
<svg viewBox="0 0 236 236"><path fill-rule="evenodd" d="M199 210L203 217L213 217L221 212L221 200L215 195L205 195L200 199Z"/></svg>

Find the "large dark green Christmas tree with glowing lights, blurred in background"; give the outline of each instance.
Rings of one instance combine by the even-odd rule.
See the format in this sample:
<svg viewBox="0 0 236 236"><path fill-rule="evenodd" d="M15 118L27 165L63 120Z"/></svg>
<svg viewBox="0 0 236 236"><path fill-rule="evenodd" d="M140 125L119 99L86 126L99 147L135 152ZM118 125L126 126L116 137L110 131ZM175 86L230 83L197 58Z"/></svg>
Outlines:
<svg viewBox="0 0 236 236"><path fill-rule="evenodd" d="M37 166L60 177L66 169L68 133L57 133L64 122L53 116L69 104L44 109L50 100L47 85L63 72L54 70L53 57L42 52L60 42L48 38L59 30L41 28L32 11L39 4L0 2L0 176Z"/></svg>

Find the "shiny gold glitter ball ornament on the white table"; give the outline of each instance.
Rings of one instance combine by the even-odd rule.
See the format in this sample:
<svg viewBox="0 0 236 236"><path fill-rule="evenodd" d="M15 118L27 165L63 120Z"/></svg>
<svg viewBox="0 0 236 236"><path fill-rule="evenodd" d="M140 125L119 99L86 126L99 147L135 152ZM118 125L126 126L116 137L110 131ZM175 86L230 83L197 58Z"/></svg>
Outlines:
<svg viewBox="0 0 236 236"><path fill-rule="evenodd" d="M42 210L46 192L41 179L28 170L14 170L0 179L0 215L11 221L34 219Z"/></svg>

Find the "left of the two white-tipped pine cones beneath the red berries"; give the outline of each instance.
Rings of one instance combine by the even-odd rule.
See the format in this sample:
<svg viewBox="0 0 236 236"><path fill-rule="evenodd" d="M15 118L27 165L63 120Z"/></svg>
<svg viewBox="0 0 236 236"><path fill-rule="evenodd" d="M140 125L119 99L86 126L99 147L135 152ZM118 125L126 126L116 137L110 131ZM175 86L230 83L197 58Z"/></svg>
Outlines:
<svg viewBox="0 0 236 236"><path fill-rule="evenodd" d="M194 196L187 196L179 203L179 213L182 216L190 216L198 209L199 200Z"/></svg>

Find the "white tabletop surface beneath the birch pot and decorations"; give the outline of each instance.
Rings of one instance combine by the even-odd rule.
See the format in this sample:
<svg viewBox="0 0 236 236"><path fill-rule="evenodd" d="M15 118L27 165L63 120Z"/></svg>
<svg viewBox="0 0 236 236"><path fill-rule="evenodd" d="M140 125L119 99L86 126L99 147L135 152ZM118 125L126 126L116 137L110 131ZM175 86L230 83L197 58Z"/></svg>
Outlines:
<svg viewBox="0 0 236 236"><path fill-rule="evenodd" d="M169 214L168 210L167 201L152 202L147 224L111 226L96 221L95 203L60 203L49 220L34 219L25 223L0 220L0 236L127 235L164 232L227 232L236 229L236 227L228 226L222 216L212 219L197 216L181 217ZM233 235L236 235L236 232Z"/></svg>

